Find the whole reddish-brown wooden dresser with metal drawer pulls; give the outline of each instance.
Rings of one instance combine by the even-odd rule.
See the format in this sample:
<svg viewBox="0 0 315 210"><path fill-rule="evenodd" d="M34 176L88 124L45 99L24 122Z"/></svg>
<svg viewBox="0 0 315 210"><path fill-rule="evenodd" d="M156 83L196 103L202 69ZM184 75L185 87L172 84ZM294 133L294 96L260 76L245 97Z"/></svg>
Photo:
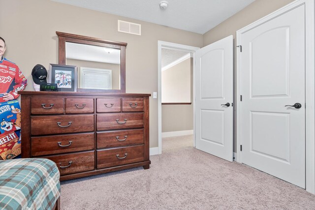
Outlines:
<svg viewBox="0 0 315 210"><path fill-rule="evenodd" d="M149 169L149 96L22 91L22 157L56 162L61 180Z"/></svg>

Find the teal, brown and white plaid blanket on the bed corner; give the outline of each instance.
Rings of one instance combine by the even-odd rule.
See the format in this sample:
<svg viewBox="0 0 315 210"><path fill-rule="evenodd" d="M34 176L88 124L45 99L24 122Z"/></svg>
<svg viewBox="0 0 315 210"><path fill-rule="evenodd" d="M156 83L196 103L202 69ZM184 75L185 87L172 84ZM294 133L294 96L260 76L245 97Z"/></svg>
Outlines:
<svg viewBox="0 0 315 210"><path fill-rule="evenodd" d="M0 161L0 209L51 210L60 196L59 178L48 159Z"/></svg>

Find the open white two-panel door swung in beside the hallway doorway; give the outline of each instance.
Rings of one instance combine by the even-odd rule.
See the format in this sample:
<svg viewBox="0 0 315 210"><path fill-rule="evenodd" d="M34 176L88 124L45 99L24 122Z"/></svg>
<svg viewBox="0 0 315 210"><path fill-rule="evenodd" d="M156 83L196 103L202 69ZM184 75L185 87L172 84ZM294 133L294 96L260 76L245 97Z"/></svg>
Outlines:
<svg viewBox="0 0 315 210"><path fill-rule="evenodd" d="M233 36L195 57L196 149L233 161Z"/></svg>

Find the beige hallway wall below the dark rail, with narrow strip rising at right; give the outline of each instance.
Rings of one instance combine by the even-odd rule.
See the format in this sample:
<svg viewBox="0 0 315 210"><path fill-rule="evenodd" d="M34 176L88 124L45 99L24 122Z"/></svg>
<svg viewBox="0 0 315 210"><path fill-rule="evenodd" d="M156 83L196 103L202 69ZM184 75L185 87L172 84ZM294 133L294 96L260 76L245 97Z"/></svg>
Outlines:
<svg viewBox="0 0 315 210"><path fill-rule="evenodd" d="M193 102L193 59L190 59L190 101ZM162 105L162 132L193 130L193 103Z"/></svg>

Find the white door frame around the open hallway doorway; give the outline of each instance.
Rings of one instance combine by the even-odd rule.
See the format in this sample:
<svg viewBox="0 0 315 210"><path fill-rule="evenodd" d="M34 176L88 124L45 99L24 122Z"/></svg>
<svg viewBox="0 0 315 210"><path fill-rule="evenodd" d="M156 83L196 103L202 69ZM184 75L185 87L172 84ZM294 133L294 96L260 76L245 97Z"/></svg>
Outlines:
<svg viewBox="0 0 315 210"><path fill-rule="evenodd" d="M194 107L194 101L195 101L195 51L200 49L199 47L192 47L188 45L183 44L177 44L172 42L165 42L165 41L159 41L158 40L158 154L162 153L162 48L165 49L171 49L171 50L182 50L186 51L187 53L192 54L193 59L193 69L192 69L192 99L193 99L193 146L196 146L196 138L195 138L195 107Z"/></svg>

